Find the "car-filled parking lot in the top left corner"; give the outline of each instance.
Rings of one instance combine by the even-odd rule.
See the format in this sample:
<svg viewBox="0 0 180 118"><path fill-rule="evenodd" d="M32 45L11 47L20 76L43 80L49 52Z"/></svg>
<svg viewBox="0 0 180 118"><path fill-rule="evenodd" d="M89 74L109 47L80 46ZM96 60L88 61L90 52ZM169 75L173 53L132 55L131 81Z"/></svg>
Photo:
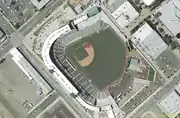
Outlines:
<svg viewBox="0 0 180 118"><path fill-rule="evenodd" d="M1 0L0 11L16 29L35 13L29 0Z"/></svg>

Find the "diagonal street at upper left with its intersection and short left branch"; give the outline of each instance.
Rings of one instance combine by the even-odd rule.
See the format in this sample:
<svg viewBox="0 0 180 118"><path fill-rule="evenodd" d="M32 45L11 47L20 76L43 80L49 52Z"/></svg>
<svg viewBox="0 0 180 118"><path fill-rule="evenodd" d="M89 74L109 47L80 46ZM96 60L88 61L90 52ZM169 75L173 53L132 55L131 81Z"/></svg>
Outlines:
<svg viewBox="0 0 180 118"><path fill-rule="evenodd" d="M18 46L24 38L16 38L17 36L26 36L38 23L42 22L44 18L50 15L54 9L59 7L63 3L63 0L53 0L47 7L36 14L34 14L26 23L24 23L21 28L16 30L0 13L0 27L2 27L8 36L10 36L9 41L2 47L0 47L0 57L6 55L7 52L14 46ZM16 42L17 41L17 42Z"/></svg>

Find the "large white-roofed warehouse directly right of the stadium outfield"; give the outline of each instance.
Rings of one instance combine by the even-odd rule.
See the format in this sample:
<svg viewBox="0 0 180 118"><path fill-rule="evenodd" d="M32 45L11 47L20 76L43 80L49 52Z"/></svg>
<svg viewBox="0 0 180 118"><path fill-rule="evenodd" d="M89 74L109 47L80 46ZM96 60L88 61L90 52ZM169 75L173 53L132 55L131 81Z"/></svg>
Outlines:
<svg viewBox="0 0 180 118"><path fill-rule="evenodd" d="M155 32L147 23L132 35L131 40L152 59L156 59L168 47L157 32Z"/></svg>

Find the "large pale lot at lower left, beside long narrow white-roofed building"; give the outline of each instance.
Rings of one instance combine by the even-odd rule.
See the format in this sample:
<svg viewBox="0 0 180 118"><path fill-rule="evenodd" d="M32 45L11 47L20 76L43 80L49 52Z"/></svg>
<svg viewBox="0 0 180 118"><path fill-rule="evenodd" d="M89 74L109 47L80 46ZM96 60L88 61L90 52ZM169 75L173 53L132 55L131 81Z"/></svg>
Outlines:
<svg viewBox="0 0 180 118"><path fill-rule="evenodd" d="M26 117L27 112L45 96L37 95L38 87L14 63L11 55L0 64L0 97L15 117ZM18 116L17 116L18 115Z"/></svg>

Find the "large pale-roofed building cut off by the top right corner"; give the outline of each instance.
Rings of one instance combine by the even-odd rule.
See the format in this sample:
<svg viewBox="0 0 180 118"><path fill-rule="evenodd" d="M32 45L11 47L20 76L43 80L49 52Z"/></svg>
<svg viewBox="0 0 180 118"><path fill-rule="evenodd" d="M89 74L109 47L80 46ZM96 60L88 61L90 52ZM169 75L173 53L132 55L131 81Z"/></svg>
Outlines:
<svg viewBox="0 0 180 118"><path fill-rule="evenodd" d="M180 1L171 0L164 3L157 11L161 12L159 19L176 35L180 32Z"/></svg>

